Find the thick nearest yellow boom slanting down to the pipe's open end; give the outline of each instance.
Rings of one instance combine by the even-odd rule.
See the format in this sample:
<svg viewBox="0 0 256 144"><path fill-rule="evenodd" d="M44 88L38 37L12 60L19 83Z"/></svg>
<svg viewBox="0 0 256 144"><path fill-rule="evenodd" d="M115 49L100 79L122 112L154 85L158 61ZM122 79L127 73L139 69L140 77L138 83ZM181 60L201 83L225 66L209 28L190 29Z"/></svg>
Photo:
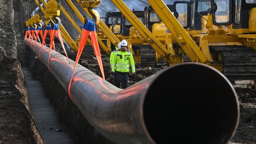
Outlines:
<svg viewBox="0 0 256 144"><path fill-rule="evenodd" d="M180 22L178 22L165 3L162 0L148 0L148 2L158 14L162 22L164 22L166 27L172 32L177 42L182 46L182 49L190 57L190 60L197 62L198 58L198 62L209 63L206 56L204 56L200 48L182 27Z"/></svg>

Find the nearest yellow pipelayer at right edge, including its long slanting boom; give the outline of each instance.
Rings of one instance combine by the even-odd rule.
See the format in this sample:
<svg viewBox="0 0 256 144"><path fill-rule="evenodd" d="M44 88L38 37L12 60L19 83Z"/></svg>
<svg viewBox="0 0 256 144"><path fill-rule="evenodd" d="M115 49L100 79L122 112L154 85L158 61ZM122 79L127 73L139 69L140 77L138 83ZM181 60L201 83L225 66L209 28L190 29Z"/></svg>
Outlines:
<svg viewBox="0 0 256 144"><path fill-rule="evenodd" d="M162 0L148 1L172 34L178 32L182 39L188 40L186 44L189 47L197 48L190 41L191 38L186 37L188 34L176 23L177 21L173 19L173 15ZM215 66L218 66L217 68L229 80L256 79L256 36L254 34L256 32L256 2L252 0L211 0L211 3L212 15L208 16L207 35L199 38L200 50L207 60L215 63ZM223 26L226 26L228 30L226 31ZM224 45L209 47L210 43L224 43ZM239 44L233 46L226 45L237 43Z"/></svg>

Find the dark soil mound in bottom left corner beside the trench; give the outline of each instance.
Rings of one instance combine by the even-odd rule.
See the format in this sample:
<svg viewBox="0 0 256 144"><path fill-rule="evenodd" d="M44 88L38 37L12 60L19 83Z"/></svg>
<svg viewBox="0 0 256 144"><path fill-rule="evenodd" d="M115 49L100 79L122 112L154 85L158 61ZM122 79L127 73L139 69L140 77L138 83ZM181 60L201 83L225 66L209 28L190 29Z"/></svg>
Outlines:
<svg viewBox="0 0 256 144"><path fill-rule="evenodd" d="M20 63L16 59L4 62L0 68L0 144L41 144Z"/></svg>

